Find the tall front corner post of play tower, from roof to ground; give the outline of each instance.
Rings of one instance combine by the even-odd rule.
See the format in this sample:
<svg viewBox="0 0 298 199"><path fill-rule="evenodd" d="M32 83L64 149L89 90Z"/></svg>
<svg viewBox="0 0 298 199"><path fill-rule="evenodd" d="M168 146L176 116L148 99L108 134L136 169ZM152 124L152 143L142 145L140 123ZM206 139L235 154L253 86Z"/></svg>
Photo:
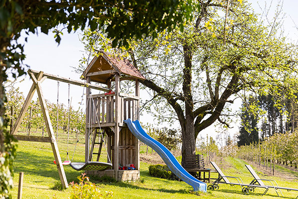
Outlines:
<svg viewBox="0 0 298 199"><path fill-rule="evenodd" d="M115 179L118 181L118 171L119 171L119 123L121 115L121 99L119 96L120 93L120 75L115 73L115 134L114 134L114 170L115 170Z"/></svg>

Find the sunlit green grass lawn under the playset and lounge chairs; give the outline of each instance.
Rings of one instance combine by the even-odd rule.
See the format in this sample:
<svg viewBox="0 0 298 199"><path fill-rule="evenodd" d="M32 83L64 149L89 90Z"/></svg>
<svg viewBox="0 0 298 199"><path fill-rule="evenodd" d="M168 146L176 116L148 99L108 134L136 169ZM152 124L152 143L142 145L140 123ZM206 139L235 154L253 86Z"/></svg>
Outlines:
<svg viewBox="0 0 298 199"><path fill-rule="evenodd" d="M39 133L33 135L40 135ZM61 133L59 137L59 150L62 160L66 158L67 151L67 135ZM83 141L83 135L80 136ZM18 189L18 173L24 172L23 182L23 199L67 199L70 197L72 188L61 191L61 183L56 165L53 163L54 156L49 143L25 142L19 141L17 148L17 157L14 162L14 189L12 190L12 198L17 198ZM70 138L70 159L72 159L75 145L74 135ZM141 148L141 151L146 151L146 146ZM103 151L105 149L103 148ZM105 152L104 152L105 153ZM106 159L106 155L103 155ZM101 161L106 161L104 158ZM84 160L84 145L78 143L74 162ZM245 168L243 160L227 157L217 161L217 164L222 168L226 176L240 177L244 183L249 183L252 177ZM104 182L100 183L93 180L102 191L112 191L115 199L258 199L265 191L264 189L256 189L254 193L244 195L239 186L221 185L219 190L208 191L207 193L193 192L191 186L184 182L169 181L164 179L153 178L148 173L149 164L141 162L141 180L138 182ZM77 176L82 172L75 171L70 166L64 167L68 182L77 182ZM258 171L257 168L254 168ZM277 172L283 172L283 175L298 176L297 172L278 166ZM276 180L280 187L298 188L297 180L286 180L281 177L268 177L263 173L258 173L261 178L270 178ZM213 177L216 177L213 176ZM231 180L232 181L232 180ZM283 191L285 198L296 198L298 192ZM278 198L275 191L270 189L266 196L262 199Z"/></svg>

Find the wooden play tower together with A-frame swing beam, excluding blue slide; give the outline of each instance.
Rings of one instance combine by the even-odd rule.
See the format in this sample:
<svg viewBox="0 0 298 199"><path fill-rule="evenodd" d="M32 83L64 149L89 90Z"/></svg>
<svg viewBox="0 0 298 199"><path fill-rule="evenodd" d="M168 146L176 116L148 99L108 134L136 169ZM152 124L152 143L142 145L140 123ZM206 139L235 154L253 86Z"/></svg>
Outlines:
<svg viewBox="0 0 298 199"><path fill-rule="evenodd" d="M51 143L59 177L62 186L65 188L68 187L68 182L41 87L41 83L47 78L86 87L86 163L92 161L94 158L93 155L96 154L97 158L95 164L98 165L104 141L103 137L105 134L107 135L107 165L112 164L112 168L105 171L86 171L86 173L98 176L110 176L119 181L138 180L140 178L139 140L129 131L126 124L123 123L123 120L127 118L132 118L134 120L139 119L140 89L138 80L145 78L128 60L122 58L111 58L104 52L101 53L102 54L100 56L95 56L93 58L81 76L82 79L85 79L85 82L47 74L42 71L28 70L28 74L33 81L33 84L21 108L20 114L11 129L11 134L13 134L14 138L17 140ZM136 82L135 95L120 93L120 81L122 80L134 80ZM91 82L105 84L108 88L91 84ZM113 89L114 92L111 92L112 82L115 82L115 88ZM91 90L99 90L106 93L91 95ZM47 137L16 134L35 91L37 91L38 99L41 104L48 132ZM96 142L96 135L99 134L102 135L102 139ZM93 151L95 150L95 145L98 144L98 152L94 153ZM136 169L119 171L119 164L134 164Z"/></svg>

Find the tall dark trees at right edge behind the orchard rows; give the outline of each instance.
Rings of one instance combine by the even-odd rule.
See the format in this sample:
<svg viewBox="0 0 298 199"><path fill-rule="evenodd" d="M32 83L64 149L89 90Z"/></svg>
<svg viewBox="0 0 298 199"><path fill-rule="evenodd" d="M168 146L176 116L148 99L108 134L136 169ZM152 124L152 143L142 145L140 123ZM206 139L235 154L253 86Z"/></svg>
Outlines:
<svg viewBox="0 0 298 199"><path fill-rule="evenodd" d="M297 95L289 98L280 93L279 97L251 97L248 104L242 104L238 146L258 143L258 139L263 141L277 133L293 133L298 129ZM249 110L251 103L254 104L253 111Z"/></svg>

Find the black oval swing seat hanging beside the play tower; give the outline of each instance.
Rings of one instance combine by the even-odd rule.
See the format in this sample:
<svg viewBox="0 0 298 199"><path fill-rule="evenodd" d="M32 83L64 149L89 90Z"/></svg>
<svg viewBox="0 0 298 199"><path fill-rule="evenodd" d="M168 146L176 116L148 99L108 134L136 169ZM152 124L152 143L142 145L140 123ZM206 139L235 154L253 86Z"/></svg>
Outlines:
<svg viewBox="0 0 298 199"><path fill-rule="evenodd" d="M70 166L76 171L104 171L112 167L111 163L106 162L72 162Z"/></svg>

